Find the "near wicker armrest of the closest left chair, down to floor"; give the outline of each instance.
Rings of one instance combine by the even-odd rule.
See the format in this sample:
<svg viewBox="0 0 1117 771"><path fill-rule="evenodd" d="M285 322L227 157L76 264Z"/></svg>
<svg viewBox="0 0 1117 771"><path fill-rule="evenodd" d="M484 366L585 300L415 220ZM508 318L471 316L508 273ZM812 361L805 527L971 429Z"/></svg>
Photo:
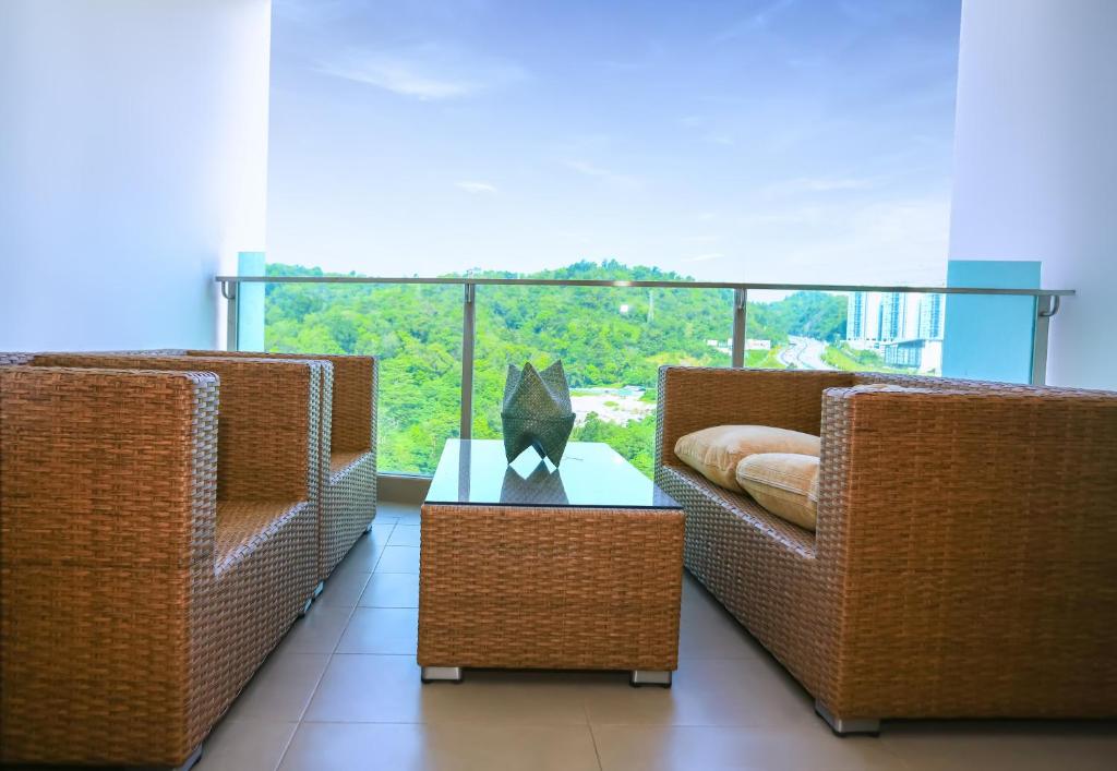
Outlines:
<svg viewBox="0 0 1117 771"><path fill-rule="evenodd" d="M0 367L0 758L189 753L220 679L218 396L206 372Z"/></svg>

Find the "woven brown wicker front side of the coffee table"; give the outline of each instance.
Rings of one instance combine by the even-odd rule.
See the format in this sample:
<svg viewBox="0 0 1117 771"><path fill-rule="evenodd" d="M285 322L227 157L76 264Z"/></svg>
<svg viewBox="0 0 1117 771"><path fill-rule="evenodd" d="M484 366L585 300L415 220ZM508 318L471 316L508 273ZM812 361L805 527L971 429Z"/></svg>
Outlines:
<svg viewBox="0 0 1117 771"><path fill-rule="evenodd" d="M424 505L422 666L675 669L678 510Z"/></svg>

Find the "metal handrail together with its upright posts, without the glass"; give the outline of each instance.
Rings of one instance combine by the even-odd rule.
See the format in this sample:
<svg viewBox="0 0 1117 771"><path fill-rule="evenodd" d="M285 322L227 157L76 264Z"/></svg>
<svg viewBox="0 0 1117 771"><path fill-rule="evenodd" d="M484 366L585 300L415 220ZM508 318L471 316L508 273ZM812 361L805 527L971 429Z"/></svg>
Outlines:
<svg viewBox="0 0 1117 771"><path fill-rule="evenodd" d="M221 295L229 301L228 345L230 350L238 348L239 330L239 293L240 284L418 284L461 286L461 422L459 432L462 439L472 434L474 410L474 356L476 341L476 303L478 286L560 286L560 287L615 287L615 288L660 288L660 289L732 289L733 297L733 349L732 367L741 368L745 363L746 322L748 313L750 291L777 292L896 292L911 294L944 295L1001 295L1032 297L1034 303L1034 321L1032 335L1031 382L1042 383L1047 377L1048 327L1051 317L1059 312L1061 297L1075 294L1073 289L1009 289L1001 287L964 287L964 286L873 286L848 284L756 284L750 282L669 282L669 280L617 280L586 278L491 278L483 276L442 276L438 278L421 278L418 276L216 276L221 285Z"/></svg>

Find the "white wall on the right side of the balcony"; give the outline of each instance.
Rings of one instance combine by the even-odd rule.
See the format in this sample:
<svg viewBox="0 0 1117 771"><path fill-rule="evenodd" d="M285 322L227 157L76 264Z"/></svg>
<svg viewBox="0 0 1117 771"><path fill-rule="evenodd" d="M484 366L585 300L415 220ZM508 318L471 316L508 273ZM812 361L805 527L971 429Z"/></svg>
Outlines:
<svg viewBox="0 0 1117 771"><path fill-rule="evenodd" d="M953 259L1072 288L1048 382L1117 389L1117 1L963 0Z"/></svg>

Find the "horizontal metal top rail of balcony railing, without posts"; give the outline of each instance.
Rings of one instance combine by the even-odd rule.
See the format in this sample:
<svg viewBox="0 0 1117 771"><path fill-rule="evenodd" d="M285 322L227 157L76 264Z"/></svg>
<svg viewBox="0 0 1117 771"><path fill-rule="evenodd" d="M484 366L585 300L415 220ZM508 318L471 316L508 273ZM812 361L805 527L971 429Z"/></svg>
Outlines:
<svg viewBox="0 0 1117 771"><path fill-rule="evenodd" d="M873 286L866 284L756 284L751 282L666 282L593 278L490 278L483 276L216 276L220 284L450 284L461 286L611 286L662 289L774 289L777 292L905 292L947 295L1019 295L1069 297L1075 289L1006 289L968 286Z"/></svg>

